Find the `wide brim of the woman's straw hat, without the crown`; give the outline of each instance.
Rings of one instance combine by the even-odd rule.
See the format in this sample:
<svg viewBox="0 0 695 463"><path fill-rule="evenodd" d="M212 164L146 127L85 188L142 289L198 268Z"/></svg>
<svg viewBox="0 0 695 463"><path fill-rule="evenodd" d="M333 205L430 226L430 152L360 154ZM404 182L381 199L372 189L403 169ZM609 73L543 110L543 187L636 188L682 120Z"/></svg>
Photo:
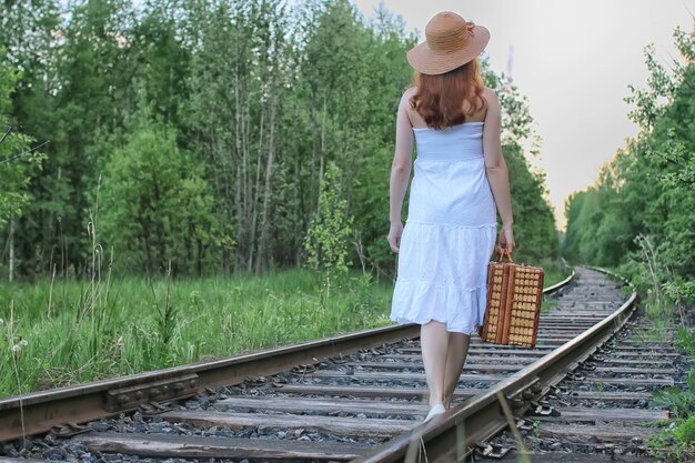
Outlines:
<svg viewBox="0 0 695 463"><path fill-rule="evenodd" d="M481 54L490 42L487 28L475 26L464 48L450 53L436 53L430 49L427 42L422 42L407 52L407 62L423 74L443 74L453 71Z"/></svg>

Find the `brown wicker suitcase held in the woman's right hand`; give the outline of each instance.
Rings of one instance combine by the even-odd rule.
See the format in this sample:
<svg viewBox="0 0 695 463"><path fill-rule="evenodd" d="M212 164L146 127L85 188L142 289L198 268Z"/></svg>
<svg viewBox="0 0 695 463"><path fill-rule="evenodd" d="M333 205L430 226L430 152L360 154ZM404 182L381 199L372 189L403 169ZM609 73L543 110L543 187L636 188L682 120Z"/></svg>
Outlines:
<svg viewBox="0 0 695 463"><path fill-rule="evenodd" d="M506 255L508 262L503 262ZM543 299L543 269L516 264L504 250L487 264L487 301L483 341L533 348Z"/></svg>

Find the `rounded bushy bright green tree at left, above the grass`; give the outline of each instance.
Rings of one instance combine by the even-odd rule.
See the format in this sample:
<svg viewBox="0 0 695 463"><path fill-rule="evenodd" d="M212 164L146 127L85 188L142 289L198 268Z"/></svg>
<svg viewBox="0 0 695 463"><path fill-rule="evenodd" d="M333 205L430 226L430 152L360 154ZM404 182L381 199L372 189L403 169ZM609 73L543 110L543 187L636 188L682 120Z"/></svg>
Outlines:
<svg viewBox="0 0 695 463"><path fill-rule="evenodd" d="M111 154L100 195L101 232L117 268L202 272L216 239L212 192L172 129L141 118Z"/></svg>

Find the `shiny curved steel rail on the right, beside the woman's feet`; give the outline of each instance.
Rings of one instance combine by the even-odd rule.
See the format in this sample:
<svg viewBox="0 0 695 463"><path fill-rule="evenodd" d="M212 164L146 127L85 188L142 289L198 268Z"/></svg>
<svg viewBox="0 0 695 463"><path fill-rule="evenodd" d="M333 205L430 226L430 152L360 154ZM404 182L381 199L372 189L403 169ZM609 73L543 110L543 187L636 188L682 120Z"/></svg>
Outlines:
<svg viewBox="0 0 695 463"><path fill-rule="evenodd" d="M621 279L604 269L592 269ZM632 288L629 282L627 284ZM577 338L470 401L353 460L353 463L463 462L476 443L507 427L506 405L515 416L522 416L551 386L560 383L624 326L636 309L636 301L637 293L633 288L629 299L620 309ZM507 404L503 405L503 401ZM423 455L426 459L423 460Z"/></svg>

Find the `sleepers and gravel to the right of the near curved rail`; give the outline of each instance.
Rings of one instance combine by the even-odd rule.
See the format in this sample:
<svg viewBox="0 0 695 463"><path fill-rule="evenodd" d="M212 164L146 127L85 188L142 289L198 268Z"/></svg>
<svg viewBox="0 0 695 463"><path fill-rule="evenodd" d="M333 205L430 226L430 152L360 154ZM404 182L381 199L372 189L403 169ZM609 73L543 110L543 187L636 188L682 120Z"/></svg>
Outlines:
<svg viewBox="0 0 695 463"><path fill-rule="evenodd" d="M662 340L644 318L632 320L545 396L543 413L520 421L523 449L533 463L646 463L654 423L668 412L649 406L652 394L683 386L689 361L674 348L673 332ZM517 462L521 444L510 432L497 435L480 461ZM504 455L507 450L514 449Z"/></svg>

